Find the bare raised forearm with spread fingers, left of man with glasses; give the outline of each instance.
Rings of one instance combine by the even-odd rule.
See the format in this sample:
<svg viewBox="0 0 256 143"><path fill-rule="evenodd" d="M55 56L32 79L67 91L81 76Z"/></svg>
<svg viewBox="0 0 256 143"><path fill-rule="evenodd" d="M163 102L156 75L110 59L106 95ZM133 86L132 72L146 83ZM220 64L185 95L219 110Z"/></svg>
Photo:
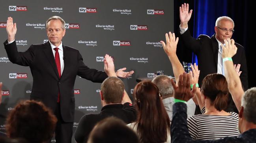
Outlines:
<svg viewBox="0 0 256 143"><path fill-rule="evenodd" d="M179 38L175 38L175 34L171 32L169 32L169 35L166 33L165 38L166 44L163 41L161 41L161 43L164 47L164 52L167 54L170 62L172 63L172 70L176 79L176 83L178 83L179 75L184 72L183 66L179 62L178 56L176 55Z"/></svg>

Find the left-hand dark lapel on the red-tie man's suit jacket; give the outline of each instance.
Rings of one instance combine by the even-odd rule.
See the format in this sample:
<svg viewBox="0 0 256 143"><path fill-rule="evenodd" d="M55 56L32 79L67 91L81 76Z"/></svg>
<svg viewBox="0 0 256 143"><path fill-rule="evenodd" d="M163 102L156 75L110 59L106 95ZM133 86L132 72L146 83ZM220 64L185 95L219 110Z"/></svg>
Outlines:
<svg viewBox="0 0 256 143"><path fill-rule="evenodd" d="M47 57L50 65L52 66L53 71L55 72L56 76L59 78L57 65L55 63L55 59L54 59L54 56L53 56L53 53L52 53L52 48L50 47L49 42L45 43L43 52L45 53L45 56Z"/></svg>

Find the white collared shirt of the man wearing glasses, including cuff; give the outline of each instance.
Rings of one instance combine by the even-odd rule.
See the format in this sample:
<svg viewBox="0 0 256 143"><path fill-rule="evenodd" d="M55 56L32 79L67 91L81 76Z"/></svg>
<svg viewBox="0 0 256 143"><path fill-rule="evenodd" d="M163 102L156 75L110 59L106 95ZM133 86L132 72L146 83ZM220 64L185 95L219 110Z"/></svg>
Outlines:
<svg viewBox="0 0 256 143"><path fill-rule="evenodd" d="M187 31L188 27L186 28L182 28L180 25L179 25L179 29L180 29L180 34L183 34ZM215 36L216 38L216 36ZM221 42L219 42L219 40L216 38L218 44L219 44L219 51L218 51L218 65L217 65L217 73L218 74L223 74L223 68L222 68L222 47L220 46L221 45ZM224 75L224 74L223 74Z"/></svg>

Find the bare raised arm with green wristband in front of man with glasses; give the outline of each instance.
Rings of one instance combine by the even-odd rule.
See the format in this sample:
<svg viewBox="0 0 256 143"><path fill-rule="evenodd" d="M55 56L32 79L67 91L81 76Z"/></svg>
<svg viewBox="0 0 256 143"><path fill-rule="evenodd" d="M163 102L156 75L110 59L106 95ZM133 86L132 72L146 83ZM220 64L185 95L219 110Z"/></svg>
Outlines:
<svg viewBox="0 0 256 143"><path fill-rule="evenodd" d="M232 39L224 40L225 46L222 47L222 59L224 64L225 77L228 82L228 90L232 95L232 99L235 103L237 110L241 107L241 100L244 94L242 83L237 75L237 72L234 70L234 64L232 57L237 52L237 47L235 46L235 41Z"/></svg>

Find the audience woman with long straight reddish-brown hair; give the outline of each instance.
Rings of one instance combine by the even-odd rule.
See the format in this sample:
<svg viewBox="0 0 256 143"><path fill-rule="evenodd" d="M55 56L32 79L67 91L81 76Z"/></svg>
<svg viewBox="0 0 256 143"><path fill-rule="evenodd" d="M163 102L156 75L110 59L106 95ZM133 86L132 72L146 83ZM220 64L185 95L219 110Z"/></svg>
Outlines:
<svg viewBox="0 0 256 143"><path fill-rule="evenodd" d="M142 81L133 93L138 118L127 126L138 134L141 143L170 143L170 119L157 86Z"/></svg>

